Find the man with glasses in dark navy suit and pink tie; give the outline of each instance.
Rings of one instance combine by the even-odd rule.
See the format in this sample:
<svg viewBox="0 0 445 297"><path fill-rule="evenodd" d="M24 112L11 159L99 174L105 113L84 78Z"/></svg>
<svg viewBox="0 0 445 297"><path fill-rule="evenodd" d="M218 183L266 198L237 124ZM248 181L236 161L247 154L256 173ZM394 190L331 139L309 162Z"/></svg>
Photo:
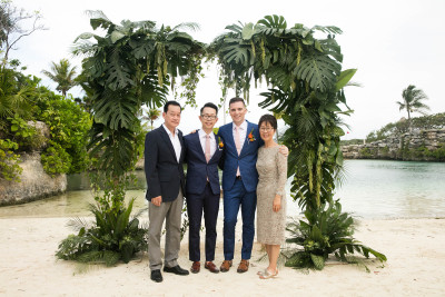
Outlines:
<svg viewBox="0 0 445 297"><path fill-rule="evenodd" d="M214 264L216 246L216 224L219 210L219 176L218 162L222 156L224 145L214 133L218 121L218 108L214 103L206 103L199 120L202 129L184 137L187 160L187 211L189 217L189 259L192 261L190 271L200 270L199 232L201 218L206 226L206 263L205 268L211 273L219 273Z"/></svg>

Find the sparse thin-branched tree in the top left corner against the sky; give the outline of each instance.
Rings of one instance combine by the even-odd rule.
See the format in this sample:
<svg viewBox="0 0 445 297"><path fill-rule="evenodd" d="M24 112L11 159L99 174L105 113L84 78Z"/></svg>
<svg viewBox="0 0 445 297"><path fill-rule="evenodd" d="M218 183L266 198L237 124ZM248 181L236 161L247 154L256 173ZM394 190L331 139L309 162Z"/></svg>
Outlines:
<svg viewBox="0 0 445 297"><path fill-rule="evenodd" d="M28 37L38 30L47 30L40 23L42 16L39 11L28 13L23 9L17 9L11 6L11 1L1 0L0 3L0 49L4 52L2 65L4 66L9 58L9 52L16 49L16 43L23 37ZM20 22L32 20L32 27L22 29Z"/></svg>

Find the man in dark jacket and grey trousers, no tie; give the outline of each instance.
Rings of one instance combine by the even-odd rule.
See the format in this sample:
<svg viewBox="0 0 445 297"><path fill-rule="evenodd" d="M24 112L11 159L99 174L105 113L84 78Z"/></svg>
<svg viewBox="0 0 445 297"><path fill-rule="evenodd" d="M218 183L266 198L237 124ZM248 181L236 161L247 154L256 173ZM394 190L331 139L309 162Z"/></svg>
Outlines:
<svg viewBox="0 0 445 297"><path fill-rule="evenodd" d="M184 206L185 145L182 132L177 129L181 107L176 101L164 106L164 125L147 133L145 143L145 171L147 179L146 198L148 208L148 257L150 260L151 280L162 281L160 235L166 221L166 248L164 271L176 275L188 275L178 265L180 248L181 211Z"/></svg>

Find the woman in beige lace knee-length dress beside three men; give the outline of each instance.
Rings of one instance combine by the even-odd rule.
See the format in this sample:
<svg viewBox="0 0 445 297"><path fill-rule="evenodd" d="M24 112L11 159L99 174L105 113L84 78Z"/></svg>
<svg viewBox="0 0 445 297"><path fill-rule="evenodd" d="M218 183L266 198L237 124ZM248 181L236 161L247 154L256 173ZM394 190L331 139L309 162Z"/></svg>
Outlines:
<svg viewBox="0 0 445 297"><path fill-rule="evenodd" d="M277 260L285 242L287 157L279 154L279 145L274 141L276 118L265 115L258 127L265 145L258 149L257 160L257 240L266 245L269 258L269 266L258 275L265 279L278 274Z"/></svg>

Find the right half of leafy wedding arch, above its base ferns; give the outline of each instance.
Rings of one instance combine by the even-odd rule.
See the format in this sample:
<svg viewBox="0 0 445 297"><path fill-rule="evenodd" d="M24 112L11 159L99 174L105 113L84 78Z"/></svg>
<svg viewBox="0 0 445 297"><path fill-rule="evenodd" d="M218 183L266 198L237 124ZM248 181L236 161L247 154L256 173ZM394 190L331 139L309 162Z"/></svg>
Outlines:
<svg viewBox="0 0 445 297"><path fill-rule="evenodd" d="M265 80L270 86L259 106L283 115L289 127L283 140L290 150L291 192L305 212L313 214L307 224L314 229L327 216L324 206L330 201L335 180L342 179L339 138L344 130L338 115L352 112L343 88L356 70L342 70L343 56L335 39L342 31L298 23L288 28L278 16L226 29L210 44L221 68L222 93L234 88L248 100L251 81ZM326 37L316 39L315 34ZM325 248L324 253L332 251Z"/></svg>

